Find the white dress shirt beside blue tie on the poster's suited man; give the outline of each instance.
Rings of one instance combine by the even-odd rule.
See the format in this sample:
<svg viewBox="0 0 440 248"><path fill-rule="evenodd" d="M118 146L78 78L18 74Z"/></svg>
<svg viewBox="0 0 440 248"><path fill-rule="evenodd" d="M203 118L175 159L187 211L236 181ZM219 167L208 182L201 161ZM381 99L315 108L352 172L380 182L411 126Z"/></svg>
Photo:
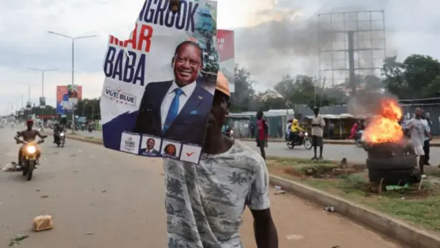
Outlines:
<svg viewBox="0 0 440 248"><path fill-rule="evenodd" d="M192 92L194 92L196 86L197 86L197 82L192 82L189 83L188 85L185 85L184 87L181 87L181 90L184 92L184 94L181 94L179 96L179 111L177 112L177 114L179 114L181 109L184 108L185 103L192 95ZM160 106L162 130L164 129L164 124L165 124L166 116L168 115L168 110L170 110L171 103L173 102L174 96L176 95L174 90L177 89L178 87L179 86L177 86L175 81L173 81L168 92L164 97L164 100L162 101L162 105Z"/></svg>

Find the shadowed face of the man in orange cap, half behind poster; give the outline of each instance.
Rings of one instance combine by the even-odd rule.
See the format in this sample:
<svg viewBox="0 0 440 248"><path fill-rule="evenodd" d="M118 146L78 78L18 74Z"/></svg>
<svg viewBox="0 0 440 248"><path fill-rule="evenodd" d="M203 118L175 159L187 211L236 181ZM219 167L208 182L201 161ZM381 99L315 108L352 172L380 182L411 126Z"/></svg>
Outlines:
<svg viewBox="0 0 440 248"><path fill-rule="evenodd" d="M221 130L221 127L225 125L225 118L229 114L229 103L225 94L221 92L215 92L214 100L212 101L211 112L208 116L207 131ZM206 134L208 136L209 134Z"/></svg>

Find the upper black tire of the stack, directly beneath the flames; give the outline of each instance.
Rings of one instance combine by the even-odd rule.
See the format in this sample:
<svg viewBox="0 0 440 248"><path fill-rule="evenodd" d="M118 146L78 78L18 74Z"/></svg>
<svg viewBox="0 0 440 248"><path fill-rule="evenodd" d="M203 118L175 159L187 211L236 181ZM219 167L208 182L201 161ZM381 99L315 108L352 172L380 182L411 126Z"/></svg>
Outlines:
<svg viewBox="0 0 440 248"><path fill-rule="evenodd" d="M391 158L366 158L366 168L369 170L414 169L417 166L417 156L396 156Z"/></svg>

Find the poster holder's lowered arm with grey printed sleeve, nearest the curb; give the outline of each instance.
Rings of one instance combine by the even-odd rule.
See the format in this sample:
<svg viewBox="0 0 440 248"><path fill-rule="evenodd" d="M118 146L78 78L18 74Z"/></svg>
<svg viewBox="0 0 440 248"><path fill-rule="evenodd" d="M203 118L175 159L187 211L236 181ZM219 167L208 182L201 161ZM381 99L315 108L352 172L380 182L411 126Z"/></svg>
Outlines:
<svg viewBox="0 0 440 248"><path fill-rule="evenodd" d="M278 248L278 234L270 213L269 174L263 158L258 163L247 202L254 216L256 247Z"/></svg>

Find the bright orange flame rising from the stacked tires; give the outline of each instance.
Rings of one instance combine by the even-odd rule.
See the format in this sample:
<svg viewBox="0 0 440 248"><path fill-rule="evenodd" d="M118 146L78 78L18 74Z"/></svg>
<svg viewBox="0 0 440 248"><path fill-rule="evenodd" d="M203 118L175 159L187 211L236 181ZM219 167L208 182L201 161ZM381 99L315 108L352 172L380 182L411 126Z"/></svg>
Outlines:
<svg viewBox="0 0 440 248"><path fill-rule="evenodd" d="M364 133L367 143L399 143L404 137L399 121L401 108L394 99L382 99L380 114L374 116Z"/></svg>

